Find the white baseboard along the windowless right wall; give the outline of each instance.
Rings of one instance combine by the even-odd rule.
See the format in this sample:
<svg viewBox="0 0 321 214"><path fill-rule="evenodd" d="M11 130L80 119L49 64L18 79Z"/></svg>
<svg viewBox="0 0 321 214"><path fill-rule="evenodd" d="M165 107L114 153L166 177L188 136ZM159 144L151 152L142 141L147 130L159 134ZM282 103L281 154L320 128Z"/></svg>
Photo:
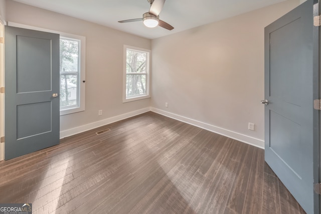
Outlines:
<svg viewBox="0 0 321 214"><path fill-rule="evenodd" d="M150 111L170 117L170 118L173 118L173 119L176 119L176 120L179 120L179 121L182 121L182 122L185 122L185 123L188 123L188 124L191 124L191 125L194 125L194 126L197 126L197 127L200 127L200 128L203 128L203 129L206 129L211 132L215 132L217 134L224 135L226 137L241 141L243 143L247 143L252 146L256 146L256 147L264 149L264 140L260 140L260 139L250 137L250 136L247 136L244 134L240 134L240 133L237 133L237 132L234 132L231 130L223 129L223 128L220 128L217 126L213 126L213 125L210 125L207 123L203 123L203 122L193 120L193 119L190 119L187 117L183 117L183 116L180 116L177 114L173 114L173 113L170 113L167 111L163 111L161 109L151 107Z"/></svg>

